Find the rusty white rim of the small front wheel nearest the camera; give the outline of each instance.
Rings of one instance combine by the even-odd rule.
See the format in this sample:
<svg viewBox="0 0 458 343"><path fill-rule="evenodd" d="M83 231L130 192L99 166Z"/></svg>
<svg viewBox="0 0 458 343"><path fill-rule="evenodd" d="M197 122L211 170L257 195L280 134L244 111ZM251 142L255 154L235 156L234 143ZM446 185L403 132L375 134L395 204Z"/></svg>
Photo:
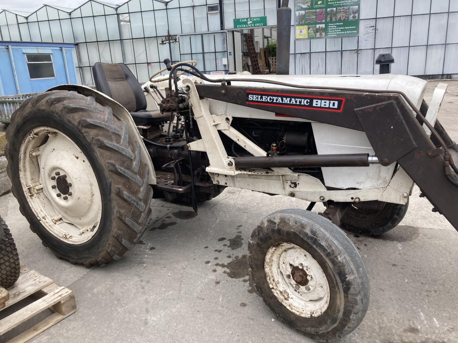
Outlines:
<svg viewBox="0 0 458 343"><path fill-rule="evenodd" d="M288 242L273 245L264 259L264 271L273 294L296 315L318 317L329 306L326 275L305 249Z"/></svg>

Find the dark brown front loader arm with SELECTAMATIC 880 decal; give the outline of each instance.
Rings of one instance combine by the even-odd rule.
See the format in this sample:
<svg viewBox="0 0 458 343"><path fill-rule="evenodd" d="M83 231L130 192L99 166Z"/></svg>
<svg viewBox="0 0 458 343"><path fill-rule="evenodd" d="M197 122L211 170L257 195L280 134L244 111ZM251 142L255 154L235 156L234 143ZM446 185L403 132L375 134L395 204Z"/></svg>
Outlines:
<svg viewBox="0 0 458 343"><path fill-rule="evenodd" d="M208 84L196 89L202 97L365 132L381 164L402 166L458 230L458 187L445 175L444 151L436 149L401 94ZM443 128L442 135L450 140Z"/></svg>

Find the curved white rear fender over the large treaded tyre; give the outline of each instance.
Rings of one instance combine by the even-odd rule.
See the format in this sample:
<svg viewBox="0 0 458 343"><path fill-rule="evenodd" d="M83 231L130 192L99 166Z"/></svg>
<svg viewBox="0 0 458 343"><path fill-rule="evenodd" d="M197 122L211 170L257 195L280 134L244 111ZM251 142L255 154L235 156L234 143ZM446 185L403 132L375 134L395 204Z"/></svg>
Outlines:
<svg viewBox="0 0 458 343"><path fill-rule="evenodd" d="M49 88L47 91L76 91L84 96L93 96L95 101L103 106L110 106L113 110L113 114L116 118L122 119L129 126L129 134L133 135L140 145L141 150L141 160L145 162L149 168L149 178L148 183L150 185L156 184L156 173L154 172L153 162L151 157L146 150L145 143L138 132L134 120L131 117L129 111L125 109L119 102L115 102L112 98L105 95L102 92L96 91L95 89L89 88L87 86L80 85L59 85L52 88Z"/></svg>

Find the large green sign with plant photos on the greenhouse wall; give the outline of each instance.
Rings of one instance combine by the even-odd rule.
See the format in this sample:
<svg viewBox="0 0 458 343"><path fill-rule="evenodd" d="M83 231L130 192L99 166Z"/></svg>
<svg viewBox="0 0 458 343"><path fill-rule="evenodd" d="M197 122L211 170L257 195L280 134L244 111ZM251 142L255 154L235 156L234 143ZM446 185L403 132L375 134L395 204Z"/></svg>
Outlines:
<svg viewBox="0 0 458 343"><path fill-rule="evenodd" d="M294 12L296 39L359 34L360 0L294 0Z"/></svg>

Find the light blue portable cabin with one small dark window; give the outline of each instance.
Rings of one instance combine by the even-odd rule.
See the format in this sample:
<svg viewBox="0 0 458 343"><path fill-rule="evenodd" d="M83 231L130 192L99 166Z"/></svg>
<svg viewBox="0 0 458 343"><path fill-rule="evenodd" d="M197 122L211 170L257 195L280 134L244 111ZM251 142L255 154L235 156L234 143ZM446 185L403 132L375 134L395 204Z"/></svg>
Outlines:
<svg viewBox="0 0 458 343"><path fill-rule="evenodd" d="M0 41L0 96L76 84L75 44Z"/></svg>

